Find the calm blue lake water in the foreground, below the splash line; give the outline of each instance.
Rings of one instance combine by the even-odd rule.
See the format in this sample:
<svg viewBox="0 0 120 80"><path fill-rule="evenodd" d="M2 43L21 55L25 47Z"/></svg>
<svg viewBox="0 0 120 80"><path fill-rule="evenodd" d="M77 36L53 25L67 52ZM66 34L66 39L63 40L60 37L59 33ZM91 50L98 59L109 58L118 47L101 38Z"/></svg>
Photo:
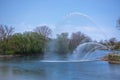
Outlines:
<svg viewBox="0 0 120 80"><path fill-rule="evenodd" d="M120 65L105 61L41 62L17 58L0 61L0 80L120 80Z"/></svg>

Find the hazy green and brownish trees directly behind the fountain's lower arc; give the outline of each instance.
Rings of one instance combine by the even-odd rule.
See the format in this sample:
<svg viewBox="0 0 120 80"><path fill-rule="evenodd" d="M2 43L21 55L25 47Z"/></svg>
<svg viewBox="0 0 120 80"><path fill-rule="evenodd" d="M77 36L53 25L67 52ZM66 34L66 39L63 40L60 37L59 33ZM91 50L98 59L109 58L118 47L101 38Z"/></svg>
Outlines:
<svg viewBox="0 0 120 80"><path fill-rule="evenodd" d="M71 53L75 48L85 42L90 42L92 39L81 32L72 33L69 37L68 33L61 33L56 38L57 53Z"/></svg>

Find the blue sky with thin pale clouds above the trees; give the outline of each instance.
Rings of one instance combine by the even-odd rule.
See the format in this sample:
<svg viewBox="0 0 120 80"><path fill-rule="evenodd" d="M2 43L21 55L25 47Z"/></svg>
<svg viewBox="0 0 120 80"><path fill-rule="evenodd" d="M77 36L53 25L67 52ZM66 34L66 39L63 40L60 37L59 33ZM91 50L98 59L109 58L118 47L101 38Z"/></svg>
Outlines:
<svg viewBox="0 0 120 80"><path fill-rule="evenodd" d="M54 34L81 31L96 40L120 39L119 17L120 0L0 0L0 24L15 27L15 32L47 25Z"/></svg>

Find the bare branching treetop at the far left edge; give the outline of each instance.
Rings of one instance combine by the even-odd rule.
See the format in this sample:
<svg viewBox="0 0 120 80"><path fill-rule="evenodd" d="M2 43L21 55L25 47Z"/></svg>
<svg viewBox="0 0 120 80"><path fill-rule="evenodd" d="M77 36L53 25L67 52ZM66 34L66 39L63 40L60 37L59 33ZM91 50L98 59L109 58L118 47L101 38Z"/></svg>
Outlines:
<svg viewBox="0 0 120 80"><path fill-rule="evenodd" d="M14 32L13 27L8 27L6 25L0 25L0 40L9 38Z"/></svg>

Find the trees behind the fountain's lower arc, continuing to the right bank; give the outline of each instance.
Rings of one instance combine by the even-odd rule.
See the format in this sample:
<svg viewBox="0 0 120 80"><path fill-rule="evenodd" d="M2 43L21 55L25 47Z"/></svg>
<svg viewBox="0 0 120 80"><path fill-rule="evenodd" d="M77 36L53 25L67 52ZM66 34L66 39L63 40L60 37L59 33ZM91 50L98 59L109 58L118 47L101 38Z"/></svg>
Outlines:
<svg viewBox="0 0 120 80"><path fill-rule="evenodd" d="M96 42L100 43L107 47L109 50L120 50L120 41L117 41L116 38L110 38L109 40L93 41L89 36L76 32L72 33L68 37L68 33L61 33L57 35L56 38L56 48L57 53L71 53L73 52L78 45L85 42Z"/></svg>

